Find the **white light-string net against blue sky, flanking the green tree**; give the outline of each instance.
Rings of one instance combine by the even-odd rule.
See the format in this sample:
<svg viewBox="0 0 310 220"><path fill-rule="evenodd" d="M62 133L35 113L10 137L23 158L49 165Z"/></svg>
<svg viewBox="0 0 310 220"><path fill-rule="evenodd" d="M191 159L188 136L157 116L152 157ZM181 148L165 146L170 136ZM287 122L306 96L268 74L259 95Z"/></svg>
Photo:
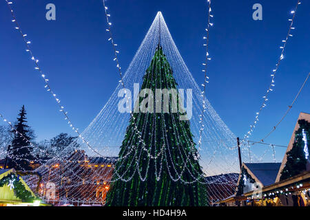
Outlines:
<svg viewBox="0 0 310 220"><path fill-rule="evenodd" d="M147 32L145 39L141 43L132 62L127 68L123 82L126 89L131 91L132 110L134 107L134 84L138 84L138 91L143 83L145 70L151 64L155 54L159 38L163 54L165 54L169 65L174 73L174 78L178 89L184 89L185 107L187 89L192 89L192 113L187 111L187 115L192 114L190 118L191 131L194 135L194 142L198 143L199 132L201 128L199 115L203 111L203 101L206 110L203 115L204 130L202 132L202 144L199 150L203 161L203 171L207 175L218 175L221 173L238 172L238 152L236 149L236 136L232 133L226 124L221 120L216 111L211 107L209 101L201 97L201 90L192 74L187 69L183 58L167 28L161 12L156 15L151 28ZM83 137L89 142L90 146L96 148L100 155L117 156L122 144L127 123L130 120L130 113L118 111L118 104L123 100L123 95L118 97L119 91L123 89L121 83L118 84L114 93L107 101L100 113L94 118L89 126L83 131ZM188 108L191 109L191 108ZM87 155L98 155L92 149L88 148L79 140L82 148ZM242 155L247 159L248 155Z"/></svg>

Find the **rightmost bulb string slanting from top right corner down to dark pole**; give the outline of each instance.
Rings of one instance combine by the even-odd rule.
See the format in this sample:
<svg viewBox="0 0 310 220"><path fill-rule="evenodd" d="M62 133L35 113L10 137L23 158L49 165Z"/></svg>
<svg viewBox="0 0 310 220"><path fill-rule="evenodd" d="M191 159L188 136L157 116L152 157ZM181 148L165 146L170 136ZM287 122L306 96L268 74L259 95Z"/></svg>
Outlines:
<svg viewBox="0 0 310 220"><path fill-rule="evenodd" d="M282 40L282 45L280 46L281 53L280 53L280 56L278 57L276 67L274 67L274 69L272 69L272 72L270 75L271 76L271 83L269 84L269 87L268 87L267 91L265 92L265 95L262 96L263 102L260 105L260 109L256 112L254 122L250 125L249 131L247 131L247 133L244 135L244 138L242 141L245 144L246 144L245 140L247 140L251 136L251 134L253 133L253 131L256 127L256 124L258 123L258 118L260 116L260 113L267 106L267 101L269 100L268 99L269 94L271 93L271 91L273 91L273 89L275 87L276 74L278 72L278 68L280 66L281 61L285 58L284 54L285 54L285 48L287 47L287 42L288 42L289 38L291 38L293 36L293 34L291 34L291 31L296 29L295 27L293 27L293 21L296 17L297 8L298 8L298 5L300 5L300 3L301 3L300 0L298 0L296 3L295 9L291 10L291 12L290 12L290 14L292 14L292 17L289 18L289 30L287 31L287 36L285 37L285 39Z"/></svg>

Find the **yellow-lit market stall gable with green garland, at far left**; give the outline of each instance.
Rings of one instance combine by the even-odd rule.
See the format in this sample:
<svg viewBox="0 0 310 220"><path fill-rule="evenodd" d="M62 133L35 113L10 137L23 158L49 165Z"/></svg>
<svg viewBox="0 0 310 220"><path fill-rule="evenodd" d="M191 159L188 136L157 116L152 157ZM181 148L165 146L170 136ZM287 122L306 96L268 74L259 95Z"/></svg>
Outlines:
<svg viewBox="0 0 310 220"><path fill-rule="evenodd" d="M0 206L41 206L14 168L0 170Z"/></svg>

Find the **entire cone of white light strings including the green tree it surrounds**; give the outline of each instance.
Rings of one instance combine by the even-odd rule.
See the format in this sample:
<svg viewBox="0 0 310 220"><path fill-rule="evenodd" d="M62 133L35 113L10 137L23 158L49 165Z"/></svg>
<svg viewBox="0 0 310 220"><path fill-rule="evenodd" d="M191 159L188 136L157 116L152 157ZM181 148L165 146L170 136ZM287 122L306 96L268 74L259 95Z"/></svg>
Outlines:
<svg viewBox="0 0 310 220"><path fill-rule="evenodd" d="M157 68L157 72L152 68ZM156 74L158 77L163 74L171 83L166 88L176 88L178 94L184 94L180 100L184 102L189 120L161 113L133 113L136 116L132 118L130 111L134 111L139 91L144 87L163 86L156 85L158 78L149 79ZM127 68L123 83L127 94L120 81L105 106L83 131L87 144L78 139L59 152L58 157L37 168L43 183L56 184L59 198L76 203L105 203L105 195L99 198L96 193L87 193L101 181L113 188L107 197L111 205L200 205L203 202L199 201L198 194L201 194L202 184L207 188L205 199L209 203L231 195L235 190L236 173L239 173L236 136L207 98L201 96L200 87L180 56L161 12ZM192 105L188 100L192 100ZM120 111L120 107L127 109ZM203 123L200 122L202 113ZM198 144L200 131L201 144ZM245 151L242 151L242 160L249 160ZM87 168L90 161L101 168ZM51 169L55 164L59 166ZM33 179L29 177L30 182ZM33 181L33 187L35 183ZM185 188L184 184L189 186ZM131 188L136 191L130 192ZM158 190L162 190L162 194ZM185 196L180 199L179 193ZM118 195L119 199L128 201L116 201ZM43 197L46 197L45 192Z"/></svg>

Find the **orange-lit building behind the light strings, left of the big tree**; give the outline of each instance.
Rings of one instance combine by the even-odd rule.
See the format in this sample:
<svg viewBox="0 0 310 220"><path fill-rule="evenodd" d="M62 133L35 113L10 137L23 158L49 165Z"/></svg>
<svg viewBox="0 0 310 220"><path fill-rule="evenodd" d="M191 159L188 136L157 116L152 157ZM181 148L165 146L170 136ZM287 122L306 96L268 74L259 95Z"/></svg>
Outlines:
<svg viewBox="0 0 310 220"><path fill-rule="evenodd" d="M48 170L39 194L56 206L104 205L116 159L88 157L84 151L75 151L65 161L44 164Z"/></svg>

